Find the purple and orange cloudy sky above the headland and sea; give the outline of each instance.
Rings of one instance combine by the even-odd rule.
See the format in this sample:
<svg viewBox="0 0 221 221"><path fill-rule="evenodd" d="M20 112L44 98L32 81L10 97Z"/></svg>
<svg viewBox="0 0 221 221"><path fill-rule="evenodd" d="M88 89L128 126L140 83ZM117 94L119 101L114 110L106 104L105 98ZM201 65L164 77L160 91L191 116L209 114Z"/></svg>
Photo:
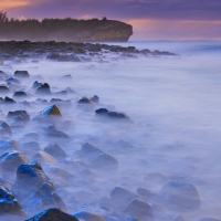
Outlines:
<svg viewBox="0 0 221 221"><path fill-rule="evenodd" d="M107 17L133 25L130 40L221 40L221 0L0 0L9 18Z"/></svg>

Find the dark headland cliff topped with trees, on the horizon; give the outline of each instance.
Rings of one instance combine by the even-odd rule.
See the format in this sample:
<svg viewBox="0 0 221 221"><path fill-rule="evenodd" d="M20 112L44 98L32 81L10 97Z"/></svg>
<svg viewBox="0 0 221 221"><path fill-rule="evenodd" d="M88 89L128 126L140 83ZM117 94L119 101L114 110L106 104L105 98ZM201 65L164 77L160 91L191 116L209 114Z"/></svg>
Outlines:
<svg viewBox="0 0 221 221"><path fill-rule="evenodd" d="M126 42L133 34L130 24L103 18L77 19L8 19L0 12L0 39L65 42Z"/></svg>

